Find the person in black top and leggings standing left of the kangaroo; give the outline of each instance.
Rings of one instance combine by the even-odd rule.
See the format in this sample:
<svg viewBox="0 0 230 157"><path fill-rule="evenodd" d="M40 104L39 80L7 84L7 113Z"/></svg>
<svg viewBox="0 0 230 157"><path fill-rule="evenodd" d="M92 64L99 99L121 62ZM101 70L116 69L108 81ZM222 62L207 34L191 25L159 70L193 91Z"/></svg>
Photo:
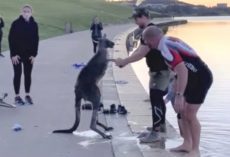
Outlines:
<svg viewBox="0 0 230 157"><path fill-rule="evenodd" d="M33 104L30 97L31 73L37 56L38 43L38 25L32 17L32 7L25 5L22 7L21 16L12 23L9 33L10 56L14 67L13 82L16 104L24 105L25 102ZM25 102L19 95L22 64L25 75Z"/></svg>

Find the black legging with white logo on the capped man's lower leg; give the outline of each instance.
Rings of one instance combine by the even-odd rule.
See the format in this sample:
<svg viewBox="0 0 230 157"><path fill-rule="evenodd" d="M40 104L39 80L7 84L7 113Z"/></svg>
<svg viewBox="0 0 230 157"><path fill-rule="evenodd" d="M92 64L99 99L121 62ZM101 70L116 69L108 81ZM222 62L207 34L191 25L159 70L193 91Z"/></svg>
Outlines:
<svg viewBox="0 0 230 157"><path fill-rule="evenodd" d="M150 101L152 105L153 130L165 123L166 106L164 103L165 91L150 89Z"/></svg>

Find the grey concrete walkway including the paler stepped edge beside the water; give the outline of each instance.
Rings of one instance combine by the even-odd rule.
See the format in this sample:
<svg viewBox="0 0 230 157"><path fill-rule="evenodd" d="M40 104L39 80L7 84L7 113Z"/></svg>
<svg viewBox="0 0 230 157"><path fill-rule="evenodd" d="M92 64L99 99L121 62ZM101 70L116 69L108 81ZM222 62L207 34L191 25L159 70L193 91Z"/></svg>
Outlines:
<svg viewBox="0 0 230 157"><path fill-rule="evenodd" d="M107 27L104 32L114 39L116 46L111 57L127 56L125 38L134 25ZM8 92L8 102L13 103L13 70L8 54L0 59L0 93ZM91 112L83 111L78 131L74 135L51 134L54 129L69 128L74 121L74 84L79 73L74 63L86 63L93 56L90 32L44 40L33 71L33 106L16 109L0 107L0 154L5 157L142 157L175 156L163 147L140 145L136 132L151 124L150 104L144 102L147 93L132 68L118 69L112 63L102 81L103 103L123 104L131 112L128 116L104 116L100 119L115 130L113 140L104 140L89 130ZM22 79L23 80L23 79ZM126 85L116 81L127 81ZM22 81L21 96L24 97ZM23 130L12 131L14 124ZM173 129L172 129L173 130ZM173 132L173 131L170 131ZM175 135L175 132L171 135ZM162 145L162 143L160 143ZM153 149L152 149L153 147ZM155 149L157 148L157 149ZM158 154L157 154L158 152Z"/></svg>

